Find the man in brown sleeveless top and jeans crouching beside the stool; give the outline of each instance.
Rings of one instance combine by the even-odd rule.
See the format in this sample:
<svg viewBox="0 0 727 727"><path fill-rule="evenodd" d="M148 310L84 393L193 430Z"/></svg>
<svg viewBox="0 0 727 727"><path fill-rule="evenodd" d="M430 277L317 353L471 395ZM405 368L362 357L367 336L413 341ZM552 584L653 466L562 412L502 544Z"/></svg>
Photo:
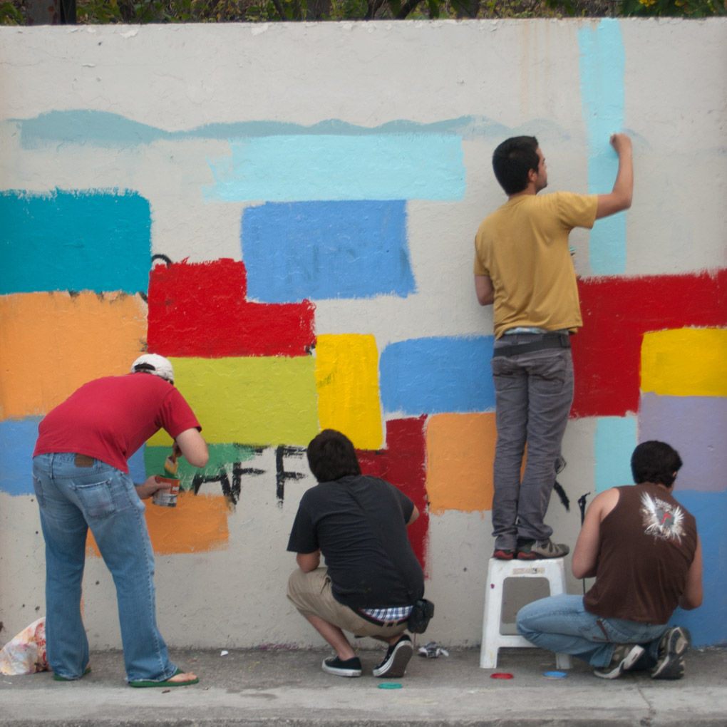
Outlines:
<svg viewBox="0 0 727 727"><path fill-rule="evenodd" d="M689 632L667 622L677 606L702 604L702 546L694 517L672 497L681 465L664 442L636 447L636 485L595 497L573 553L574 576L595 576L595 584L585 596L550 596L521 608L521 635L578 656L603 679L641 669L653 679L684 675Z"/></svg>

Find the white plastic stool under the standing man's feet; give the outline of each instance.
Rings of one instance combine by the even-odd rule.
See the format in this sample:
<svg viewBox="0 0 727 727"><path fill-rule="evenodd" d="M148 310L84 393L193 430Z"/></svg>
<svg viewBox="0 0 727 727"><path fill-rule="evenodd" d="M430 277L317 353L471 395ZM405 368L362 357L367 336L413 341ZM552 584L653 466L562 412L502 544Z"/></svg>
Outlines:
<svg viewBox="0 0 727 727"><path fill-rule="evenodd" d="M485 595L485 615L482 623L482 648L480 651L480 667L494 669L497 667L497 652L503 646L529 647L528 640L519 634L501 634L502 619L502 587L506 578L545 578L550 585L550 595L566 593L566 570L563 558L544 558L542 561L500 561L490 558L487 568L487 593ZM569 654L555 654L558 669L570 669L573 666Z"/></svg>

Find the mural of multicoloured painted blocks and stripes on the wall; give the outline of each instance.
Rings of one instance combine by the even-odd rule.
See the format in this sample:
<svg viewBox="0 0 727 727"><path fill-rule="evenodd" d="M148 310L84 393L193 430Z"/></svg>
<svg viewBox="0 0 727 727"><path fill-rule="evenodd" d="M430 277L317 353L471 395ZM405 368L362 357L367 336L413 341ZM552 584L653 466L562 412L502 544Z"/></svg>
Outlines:
<svg viewBox="0 0 727 727"><path fill-rule="evenodd" d="M608 191L616 170L608 135L622 128L626 104L619 23L580 26L578 45L587 186ZM374 127L260 119L169 132L83 108L15 123L28 150L143 154L154 142L173 151L226 140L227 155L200 160L199 179L212 182L194 182L196 204L241 214L230 231L238 257L190 261L154 244L153 202L126 174L114 188L66 188L49 177L45 193L0 191L0 490L32 494L44 413L149 350L172 359L211 445L204 470L182 462L176 510L147 508L157 553L225 549L248 488L263 482L283 502L286 484L303 476L305 445L324 427L347 433L364 471L422 511L411 539L425 570L433 518L479 511L489 521L491 332L377 340L345 321L322 330L316 313L322 301L416 294L411 204L461 203L463 143L494 148L491 139L517 130L473 116ZM156 185L164 194L164 180ZM596 222L579 281L585 326L574 339L571 416L595 419L595 491L630 481L638 441L680 450L678 498L696 515L707 574L704 606L680 618L696 643L715 643L727 639L715 625L727 592L710 576L723 572L726 545L727 268L629 276L628 254L626 215ZM152 438L130 462L134 481L161 470L168 449L164 433Z"/></svg>

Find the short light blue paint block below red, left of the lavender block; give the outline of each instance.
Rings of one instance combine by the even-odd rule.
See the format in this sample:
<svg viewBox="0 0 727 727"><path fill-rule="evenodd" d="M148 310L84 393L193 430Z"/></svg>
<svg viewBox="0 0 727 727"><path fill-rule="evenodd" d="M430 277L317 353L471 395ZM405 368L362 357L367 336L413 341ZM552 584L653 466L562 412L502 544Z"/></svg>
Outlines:
<svg viewBox="0 0 727 727"><path fill-rule="evenodd" d="M635 417L601 417L595 425L595 491L633 484L631 454L636 446Z"/></svg>

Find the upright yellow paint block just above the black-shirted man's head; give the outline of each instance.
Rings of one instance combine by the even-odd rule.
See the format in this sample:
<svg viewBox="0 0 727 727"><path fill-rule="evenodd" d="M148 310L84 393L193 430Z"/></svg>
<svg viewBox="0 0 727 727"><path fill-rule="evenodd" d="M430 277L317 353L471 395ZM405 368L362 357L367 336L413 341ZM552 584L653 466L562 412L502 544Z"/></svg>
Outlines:
<svg viewBox="0 0 727 727"><path fill-rule="evenodd" d="M321 429L337 429L358 449L380 449L379 353L371 335L319 335L316 388Z"/></svg>

